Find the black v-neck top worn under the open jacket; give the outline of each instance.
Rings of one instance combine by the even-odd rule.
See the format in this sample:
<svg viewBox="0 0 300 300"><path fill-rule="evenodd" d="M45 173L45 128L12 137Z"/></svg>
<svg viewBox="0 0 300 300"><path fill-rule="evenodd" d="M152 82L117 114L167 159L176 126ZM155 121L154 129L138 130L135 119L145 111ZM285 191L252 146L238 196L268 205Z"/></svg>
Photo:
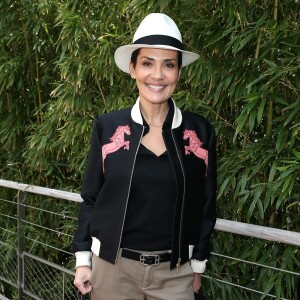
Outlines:
<svg viewBox="0 0 300 300"><path fill-rule="evenodd" d="M176 195L167 152L157 156L140 144L121 247L141 251L171 249Z"/></svg>

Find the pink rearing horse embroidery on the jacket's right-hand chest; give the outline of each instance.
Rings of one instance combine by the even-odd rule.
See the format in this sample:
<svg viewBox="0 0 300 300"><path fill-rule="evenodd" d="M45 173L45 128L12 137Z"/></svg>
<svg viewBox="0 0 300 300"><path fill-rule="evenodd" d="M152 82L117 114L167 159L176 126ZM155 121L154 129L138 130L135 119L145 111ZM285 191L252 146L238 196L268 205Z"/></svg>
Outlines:
<svg viewBox="0 0 300 300"><path fill-rule="evenodd" d="M183 133L183 139L190 139L190 144L188 146L184 146L185 154L189 155L190 151L193 152L197 157L204 160L206 165L206 175L207 175L207 167L208 167L208 151L203 149L201 146L203 143L198 138L196 132L194 130L185 130Z"/></svg>

